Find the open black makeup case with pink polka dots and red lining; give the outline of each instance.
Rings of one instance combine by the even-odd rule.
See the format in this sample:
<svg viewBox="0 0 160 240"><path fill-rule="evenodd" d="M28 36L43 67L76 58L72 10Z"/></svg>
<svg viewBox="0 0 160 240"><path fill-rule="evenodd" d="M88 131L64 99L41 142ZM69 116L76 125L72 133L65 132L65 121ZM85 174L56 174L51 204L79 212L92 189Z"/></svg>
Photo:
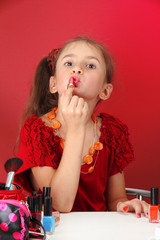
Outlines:
<svg viewBox="0 0 160 240"><path fill-rule="evenodd" d="M0 239L15 240L46 239L45 230L39 220L31 216L23 190L16 185L15 190L4 190L0 184ZM30 233L30 223L37 225L37 232ZM43 233L41 233L41 229Z"/></svg>

